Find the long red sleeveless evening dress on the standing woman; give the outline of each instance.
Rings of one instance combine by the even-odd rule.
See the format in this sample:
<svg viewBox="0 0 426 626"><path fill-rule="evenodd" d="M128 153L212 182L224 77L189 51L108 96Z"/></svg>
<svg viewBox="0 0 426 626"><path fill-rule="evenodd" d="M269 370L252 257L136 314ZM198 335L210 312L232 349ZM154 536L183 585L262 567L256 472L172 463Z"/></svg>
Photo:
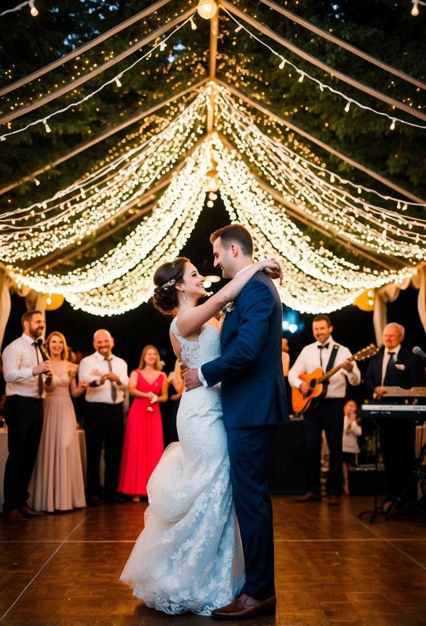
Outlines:
<svg viewBox="0 0 426 626"><path fill-rule="evenodd" d="M137 391L161 395L164 374L147 382L139 370ZM127 418L117 491L129 495L147 495L146 484L164 452L161 413L158 403L149 398L134 398Z"/></svg>

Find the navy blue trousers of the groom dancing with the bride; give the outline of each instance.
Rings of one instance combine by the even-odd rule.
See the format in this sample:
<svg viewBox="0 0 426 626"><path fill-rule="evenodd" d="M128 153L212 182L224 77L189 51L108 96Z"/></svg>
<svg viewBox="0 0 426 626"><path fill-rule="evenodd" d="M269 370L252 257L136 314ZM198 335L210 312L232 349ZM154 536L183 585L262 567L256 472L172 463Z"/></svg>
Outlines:
<svg viewBox="0 0 426 626"><path fill-rule="evenodd" d="M265 600L275 593L272 501L266 475L277 426L227 429L230 479L244 552L242 593Z"/></svg>

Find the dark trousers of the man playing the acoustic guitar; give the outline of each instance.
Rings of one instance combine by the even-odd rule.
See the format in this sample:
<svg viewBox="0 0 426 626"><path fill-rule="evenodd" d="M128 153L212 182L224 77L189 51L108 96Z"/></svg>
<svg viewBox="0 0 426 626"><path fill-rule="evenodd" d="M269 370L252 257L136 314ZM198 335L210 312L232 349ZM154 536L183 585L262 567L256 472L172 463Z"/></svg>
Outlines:
<svg viewBox="0 0 426 626"><path fill-rule="evenodd" d="M321 444L323 429L330 451L330 467L325 490L329 496L340 496L342 493L343 420L342 398L325 398L320 400L315 411L304 415L308 491L312 493L321 493Z"/></svg>

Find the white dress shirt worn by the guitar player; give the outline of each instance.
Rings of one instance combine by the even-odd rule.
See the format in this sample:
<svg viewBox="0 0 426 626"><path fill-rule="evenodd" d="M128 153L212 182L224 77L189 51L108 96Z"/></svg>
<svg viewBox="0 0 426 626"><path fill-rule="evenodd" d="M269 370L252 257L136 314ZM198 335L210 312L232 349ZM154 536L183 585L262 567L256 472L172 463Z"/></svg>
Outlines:
<svg viewBox="0 0 426 626"><path fill-rule="evenodd" d="M324 347L319 349L321 344L315 341L315 343L305 346L302 352L300 352L293 367L289 371L288 379L292 387L299 389L300 384L302 384L299 374L312 374L314 369L317 369L317 367L322 367L322 371L325 372L325 368L330 360L334 346L334 341L331 335L329 339L327 339L326 344L329 344L328 348ZM345 359L349 359L351 356L352 354L350 353L349 348L339 345L333 368L342 364ZM346 377L351 385L356 386L360 384L361 372L359 371L359 367L355 361L352 361L352 364L354 366L352 372L347 372L345 369L340 368L338 372L329 378L325 398L344 398L346 394Z"/></svg>

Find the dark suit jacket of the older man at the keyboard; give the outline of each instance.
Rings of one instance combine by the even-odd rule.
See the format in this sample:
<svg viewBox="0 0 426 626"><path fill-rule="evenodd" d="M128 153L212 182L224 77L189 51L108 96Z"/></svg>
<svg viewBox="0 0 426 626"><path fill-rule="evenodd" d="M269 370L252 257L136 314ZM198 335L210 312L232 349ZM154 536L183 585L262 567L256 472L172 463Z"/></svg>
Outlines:
<svg viewBox="0 0 426 626"><path fill-rule="evenodd" d="M382 364L385 349L382 347L377 354L372 357L365 374L365 385L370 391L370 396L374 393L375 387L382 384ZM404 366L405 369L395 367L397 365ZM425 369L417 354L413 354L407 348L400 347L398 360L394 366L388 367L385 373L384 386L386 387L402 387L402 389L410 389L411 387L421 387L425 382Z"/></svg>

